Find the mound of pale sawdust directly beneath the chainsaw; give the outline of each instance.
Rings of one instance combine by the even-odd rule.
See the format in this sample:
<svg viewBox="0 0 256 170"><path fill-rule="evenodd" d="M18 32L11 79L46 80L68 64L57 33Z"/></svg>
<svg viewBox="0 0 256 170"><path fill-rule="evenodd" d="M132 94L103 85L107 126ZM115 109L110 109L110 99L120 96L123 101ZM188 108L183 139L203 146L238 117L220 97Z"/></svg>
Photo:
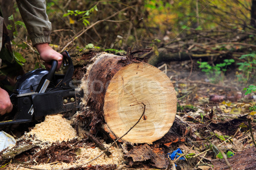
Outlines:
<svg viewBox="0 0 256 170"><path fill-rule="evenodd" d="M27 134L35 135L35 138L41 141L67 141L67 139L78 137L70 123L71 121L62 118L61 114L47 115L44 122L35 125Z"/></svg>

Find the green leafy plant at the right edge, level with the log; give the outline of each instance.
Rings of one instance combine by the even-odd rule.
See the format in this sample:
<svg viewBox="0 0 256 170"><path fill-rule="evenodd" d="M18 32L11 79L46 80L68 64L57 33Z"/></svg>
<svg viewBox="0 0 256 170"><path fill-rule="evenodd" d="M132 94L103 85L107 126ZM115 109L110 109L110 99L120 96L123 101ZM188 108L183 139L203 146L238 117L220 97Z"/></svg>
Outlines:
<svg viewBox="0 0 256 170"><path fill-rule="evenodd" d="M246 82L248 79L251 79L256 71L256 53L253 52L251 54L242 55L239 59L244 59L244 62L239 62L239 71L240 73L237 74L239 81Z"/></svg>

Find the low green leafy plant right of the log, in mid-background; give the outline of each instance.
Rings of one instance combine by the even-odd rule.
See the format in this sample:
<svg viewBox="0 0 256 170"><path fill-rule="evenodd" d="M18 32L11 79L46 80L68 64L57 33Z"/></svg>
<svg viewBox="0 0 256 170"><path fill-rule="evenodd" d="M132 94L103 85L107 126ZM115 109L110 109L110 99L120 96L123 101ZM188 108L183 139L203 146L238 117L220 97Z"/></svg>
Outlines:
<svg viewBox="0 0 256 170"><path fill-rule="evenodd" d="M227 66L231 65L235 62L234 59L224 59L223 63L218 63L216 65L209 65L208 62L197 62L199 64L199 68L201 68L203 72L206 73L208 79L216 83L220 80L223 80L224 74L227 71Z"/></svg>

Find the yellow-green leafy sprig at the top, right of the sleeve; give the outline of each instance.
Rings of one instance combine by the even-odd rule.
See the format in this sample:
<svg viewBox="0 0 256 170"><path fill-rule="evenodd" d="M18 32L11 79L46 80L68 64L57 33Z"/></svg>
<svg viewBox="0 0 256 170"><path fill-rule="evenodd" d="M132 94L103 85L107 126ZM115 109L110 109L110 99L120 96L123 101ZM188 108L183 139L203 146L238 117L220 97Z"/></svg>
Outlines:
<svg viewBox="0 0 256 170"><path fill-rule="evenodd" d="M98 3L97 3L98 4ZM79 10L75 10L75 11L72 11L72 10L67 10L67 14L64 14L63 17L67 17L67 16L81 16L81 18L78 20L78 21L81 21L83 22L84 26L88 26L90 25L90 22L87 20L87 18L90 18L89 15L93 12L93 11L98 11L98 8L97 8L97 4L95 6L93 6L92 8L90 8L89 10L87 11L79 11Z"/></svg>

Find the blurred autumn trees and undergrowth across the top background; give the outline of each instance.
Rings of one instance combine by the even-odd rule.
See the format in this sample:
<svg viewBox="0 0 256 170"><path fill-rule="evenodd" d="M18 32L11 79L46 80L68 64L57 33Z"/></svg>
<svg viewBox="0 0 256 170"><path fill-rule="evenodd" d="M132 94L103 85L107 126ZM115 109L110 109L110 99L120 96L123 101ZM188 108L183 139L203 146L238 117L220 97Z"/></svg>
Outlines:
<svg viewBox="0 0 256 170"><path fill-rule="evenodd" d="M0 3L5 16L21 20L15 0ZM255 6L255 0L47 0L47 13L53 44L64 47L73 40L75 47L126 49L171 43L193 31L242 31L254 37Z"/></svg>

